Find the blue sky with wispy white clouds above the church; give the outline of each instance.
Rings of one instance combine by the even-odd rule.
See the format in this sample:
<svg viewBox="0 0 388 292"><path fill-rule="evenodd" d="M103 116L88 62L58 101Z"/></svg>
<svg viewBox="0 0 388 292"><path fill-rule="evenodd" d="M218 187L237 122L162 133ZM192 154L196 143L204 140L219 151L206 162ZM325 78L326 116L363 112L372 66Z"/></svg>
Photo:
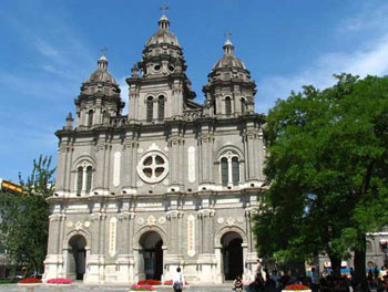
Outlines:
<svg viewBox="0 0 388 292"><path fill-rule="evenodd" d="M388 74L387 0L1 0L0 178L27 177L40 154L57 163L53 133L103 45L127 103L124 80L163 3L197 102L228 31L257 83L259 113L304 84L329 86L334 73Z"/></svg>

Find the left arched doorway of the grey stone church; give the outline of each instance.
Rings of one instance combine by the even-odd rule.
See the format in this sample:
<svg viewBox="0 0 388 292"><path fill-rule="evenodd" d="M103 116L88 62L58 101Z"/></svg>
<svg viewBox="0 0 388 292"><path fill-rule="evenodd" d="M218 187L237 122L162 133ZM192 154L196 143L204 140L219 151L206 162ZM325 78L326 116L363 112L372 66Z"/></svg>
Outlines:
<svg viewBox="0 0 388 292"><path fill-rule="evenodd" d="M76 234L69 240L68 278L70 280L83 280L86 268L86 240Z"/></svg>

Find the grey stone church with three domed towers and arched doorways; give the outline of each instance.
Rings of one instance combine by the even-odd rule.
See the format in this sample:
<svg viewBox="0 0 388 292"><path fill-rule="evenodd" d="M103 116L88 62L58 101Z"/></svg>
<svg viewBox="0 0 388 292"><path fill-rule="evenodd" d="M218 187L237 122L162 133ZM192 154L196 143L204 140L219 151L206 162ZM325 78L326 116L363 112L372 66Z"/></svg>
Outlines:
<svg viewBox="0 0 388 292"><path fill-rule="evenodd" d="M100 58L75 98L75 121L69 114L55 133L43 279L166 281L177 267L191 283L253 279L264 115L229 40L223 51L200 104L163 14L126 79L127 114Z"/></svg>

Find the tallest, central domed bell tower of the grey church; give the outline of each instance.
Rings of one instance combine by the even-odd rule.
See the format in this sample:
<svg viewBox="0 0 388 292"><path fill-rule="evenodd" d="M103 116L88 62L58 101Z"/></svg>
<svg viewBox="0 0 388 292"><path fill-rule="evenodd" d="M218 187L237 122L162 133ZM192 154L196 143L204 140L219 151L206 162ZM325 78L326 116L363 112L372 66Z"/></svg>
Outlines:
<svg viewBox="0 0 388 292"><path fill-rule="evenodd" d="M126 79L130 85L129 119L146 124L182 119L184 109L195 104L186 67L182 46L163 14L157 32L144 46L142 60Z"/></svg>

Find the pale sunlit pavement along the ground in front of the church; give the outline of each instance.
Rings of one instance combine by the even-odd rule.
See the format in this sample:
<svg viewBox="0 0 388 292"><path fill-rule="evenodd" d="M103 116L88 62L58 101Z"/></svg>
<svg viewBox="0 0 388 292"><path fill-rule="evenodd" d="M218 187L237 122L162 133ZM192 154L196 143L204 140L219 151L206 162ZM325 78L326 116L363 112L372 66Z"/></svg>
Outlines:
<svg viewBox="0 0 388 292"><path fill-rule="evenodd" d="M203 285L203 286L188 286L184 289L184 292L231 292L232 283L221 284L221 285ZM25 292L25 288L20 288L17 284L2 284L0 285L0 292ZM69 288L64 288L62 292L129 292L130 286L112 286L112 285L83 285L83 284L72 284ZM173 292L172 288L157 288L161 292ZM52 286L41 285L37 288L34 292L54 292Z"/></svg>

